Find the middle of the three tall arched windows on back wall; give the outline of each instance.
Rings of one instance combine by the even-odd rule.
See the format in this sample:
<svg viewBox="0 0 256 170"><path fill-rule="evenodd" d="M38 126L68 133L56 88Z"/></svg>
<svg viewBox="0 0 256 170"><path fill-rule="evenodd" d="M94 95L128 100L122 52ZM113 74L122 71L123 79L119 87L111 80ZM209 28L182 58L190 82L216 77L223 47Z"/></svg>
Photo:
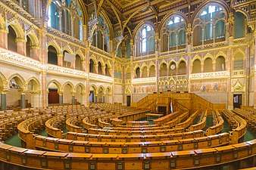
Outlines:
<svg viewBox="0 0 256 170"><path fill-rule="evenodd" d="M162 51L176 50L186 45L186 22L179 16L170 17L162 29Z"/></svg>

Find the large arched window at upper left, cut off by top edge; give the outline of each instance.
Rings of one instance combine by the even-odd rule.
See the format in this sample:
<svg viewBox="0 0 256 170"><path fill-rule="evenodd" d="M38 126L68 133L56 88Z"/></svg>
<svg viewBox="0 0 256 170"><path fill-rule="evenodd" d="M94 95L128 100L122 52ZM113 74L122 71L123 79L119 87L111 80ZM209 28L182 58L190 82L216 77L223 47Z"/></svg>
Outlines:
<svg viewBox="0 0 256 170"><path fill-rule="evenodd" d="M76 0L52 1L48 8L48 26L82 40L82 13Z"/></svg>

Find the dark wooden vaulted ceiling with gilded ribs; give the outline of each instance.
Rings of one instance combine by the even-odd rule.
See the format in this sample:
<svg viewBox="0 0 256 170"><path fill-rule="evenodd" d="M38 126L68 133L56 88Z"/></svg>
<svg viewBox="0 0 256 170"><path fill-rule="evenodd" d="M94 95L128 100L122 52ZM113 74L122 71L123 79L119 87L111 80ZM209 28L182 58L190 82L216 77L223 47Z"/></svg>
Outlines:
<svg viewBox="0 0 256 170"><path fill-rule="evenodd" d="M230 0L220 0L230 3ZM158 27L158 24L172 11L180 11L188 19L194 11L206 2L204 0L84 0L86 5L96 5L105 11L114 27L133 30L142 20L149 20Z"/></svg>

